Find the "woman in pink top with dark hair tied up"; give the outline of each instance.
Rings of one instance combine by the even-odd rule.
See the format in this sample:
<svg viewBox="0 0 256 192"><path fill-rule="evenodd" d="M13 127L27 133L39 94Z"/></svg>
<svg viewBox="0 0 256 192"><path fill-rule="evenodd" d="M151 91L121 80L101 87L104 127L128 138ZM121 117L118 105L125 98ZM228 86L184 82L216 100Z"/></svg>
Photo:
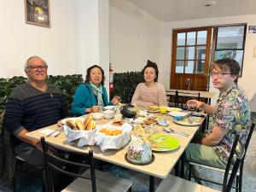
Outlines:
<svg viewBox="0 0 256 192"><path fill-rule="evenodd" d="M141 107L167 106L166 90L162 84L157 83L158 73L157 65L148 61L143 68L145 83L137 85L131 103Z"/></svg>

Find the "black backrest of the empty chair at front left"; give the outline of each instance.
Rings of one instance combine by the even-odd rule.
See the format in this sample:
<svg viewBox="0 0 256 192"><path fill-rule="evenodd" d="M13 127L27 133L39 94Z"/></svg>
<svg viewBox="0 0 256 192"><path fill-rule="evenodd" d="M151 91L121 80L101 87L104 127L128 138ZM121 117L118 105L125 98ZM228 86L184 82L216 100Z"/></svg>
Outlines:
<svg viewBox="0 0 256 192"><path fill-rule="evenodd" d="M41 137L41 143L44 151L44 166L46 171L46 188L49 192L54 192L54 183L52 177L52 171L61 172L62 174L66 174L71 177L82 177L85 179L91 180L91 191L96 192L96 175L95 175L95 167L93 163L93 151L90 150L89 154L79 154L84 157L84 161L88 161L86 163L79 163L71 160L66 160L61 158L57 152L61 153L69 153L69 154L78 154L74 151L66 150L63 148L58 148L54 145L51 145L45 142L44 137ZM53 152L54 151L54 152ZM66 169L68 167L68 169ZM83 172L78 172L79 170L90 169L90 177L84 177Z"/></svg>

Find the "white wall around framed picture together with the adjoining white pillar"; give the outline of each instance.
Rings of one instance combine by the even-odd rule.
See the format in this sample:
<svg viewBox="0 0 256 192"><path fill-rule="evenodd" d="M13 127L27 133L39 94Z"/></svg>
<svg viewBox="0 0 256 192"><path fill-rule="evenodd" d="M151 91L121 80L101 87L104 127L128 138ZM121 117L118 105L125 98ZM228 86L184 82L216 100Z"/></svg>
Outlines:
<svg viewBox="0 0 256 192"><path fill-rule="evenodd" d="M0 3L0 78L25 75L26 59L39 55L49 74L85 74L100 64L108 79L108 0L50 1L50 28L26 24L24 1Z"/></svg>

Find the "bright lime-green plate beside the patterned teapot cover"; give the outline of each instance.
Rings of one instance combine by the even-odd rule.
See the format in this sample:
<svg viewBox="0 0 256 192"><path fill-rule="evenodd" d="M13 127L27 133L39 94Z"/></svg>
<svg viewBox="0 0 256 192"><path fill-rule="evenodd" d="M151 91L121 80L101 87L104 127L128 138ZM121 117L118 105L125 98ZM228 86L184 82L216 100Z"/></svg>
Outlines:
<svg viewBox="0 0 256 192"><path fill-rule="evenodd" d="M153 151L172 151L179 147L179 141L164 133L154 133L148 136Z"/></svg>

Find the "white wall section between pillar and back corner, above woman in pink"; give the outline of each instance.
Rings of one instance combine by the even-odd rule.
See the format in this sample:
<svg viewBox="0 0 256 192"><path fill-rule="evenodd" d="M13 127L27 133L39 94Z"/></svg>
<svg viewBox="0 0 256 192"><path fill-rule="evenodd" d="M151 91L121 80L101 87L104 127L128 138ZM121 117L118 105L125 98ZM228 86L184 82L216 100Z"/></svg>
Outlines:
<svg viewBox="0 0 256 192"><path fill-rule="evenodd" d="M110 0L110 62L114 72L160 62L161 22L126 0ZM161 71L161 69L160 69Z"/></svg>

